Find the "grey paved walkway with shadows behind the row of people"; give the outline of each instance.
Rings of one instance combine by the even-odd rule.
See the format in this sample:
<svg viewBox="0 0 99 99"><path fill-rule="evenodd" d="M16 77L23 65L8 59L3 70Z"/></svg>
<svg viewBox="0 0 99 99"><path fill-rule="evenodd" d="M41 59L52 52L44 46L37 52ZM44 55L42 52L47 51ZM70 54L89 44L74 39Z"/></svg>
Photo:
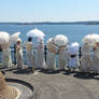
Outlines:
<svg viewBox="0 0 99 99"><path fill-rule="evenodd" d="M5 77L33 85L36 99L99 99L99 75L80 72L6 71Z"/></svg>

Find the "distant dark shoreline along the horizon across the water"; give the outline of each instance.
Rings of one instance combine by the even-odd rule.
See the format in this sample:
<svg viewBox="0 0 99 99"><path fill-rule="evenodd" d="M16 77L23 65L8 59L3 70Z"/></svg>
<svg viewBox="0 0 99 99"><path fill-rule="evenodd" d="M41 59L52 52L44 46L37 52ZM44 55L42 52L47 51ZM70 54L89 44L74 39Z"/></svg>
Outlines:
<svg viewBox="0 0 99 99"><path fill-rule="evenodd" d="M99 25L99 22L34 22L34 23L0 23L0 25Z"/></svg>

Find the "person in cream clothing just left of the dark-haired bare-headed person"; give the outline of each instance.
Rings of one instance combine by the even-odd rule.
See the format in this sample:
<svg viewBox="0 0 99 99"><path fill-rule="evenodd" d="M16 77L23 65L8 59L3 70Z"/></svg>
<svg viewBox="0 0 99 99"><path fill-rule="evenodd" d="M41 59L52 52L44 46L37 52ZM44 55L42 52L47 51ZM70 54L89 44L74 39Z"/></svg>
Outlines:
<svg viewBox="0 0 99 99"><path fill-rule="evenodd" d="M22 40L18 39L16 43L16 60L17 60L17 68L23 68L24 62L23 62L23 48L22 48Z"/></svg>

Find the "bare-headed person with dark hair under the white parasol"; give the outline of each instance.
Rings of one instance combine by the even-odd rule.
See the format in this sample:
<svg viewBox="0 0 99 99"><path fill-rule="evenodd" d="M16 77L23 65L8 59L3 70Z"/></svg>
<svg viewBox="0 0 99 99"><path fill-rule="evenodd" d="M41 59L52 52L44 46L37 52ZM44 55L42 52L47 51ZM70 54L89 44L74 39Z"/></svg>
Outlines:
<svg viewBox="0 0 99 99"><path fill-rule="evenodd" d="M34 54L31 37L28 38L28 42L26 43L26 52L27 52L28 68L32 68L32 70L34 71Z"/></svg>

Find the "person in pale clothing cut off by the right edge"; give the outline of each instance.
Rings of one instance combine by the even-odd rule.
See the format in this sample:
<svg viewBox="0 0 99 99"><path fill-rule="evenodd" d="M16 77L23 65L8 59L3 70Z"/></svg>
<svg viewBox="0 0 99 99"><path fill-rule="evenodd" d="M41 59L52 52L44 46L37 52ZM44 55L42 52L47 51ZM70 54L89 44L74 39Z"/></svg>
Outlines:
<svg viewBox="0 0 99 99"><path fill-rule="evenodd" d="M94 73L99 72L99 42L97 42L94 46L94 55L93 55L93 70Z"/></svg>

